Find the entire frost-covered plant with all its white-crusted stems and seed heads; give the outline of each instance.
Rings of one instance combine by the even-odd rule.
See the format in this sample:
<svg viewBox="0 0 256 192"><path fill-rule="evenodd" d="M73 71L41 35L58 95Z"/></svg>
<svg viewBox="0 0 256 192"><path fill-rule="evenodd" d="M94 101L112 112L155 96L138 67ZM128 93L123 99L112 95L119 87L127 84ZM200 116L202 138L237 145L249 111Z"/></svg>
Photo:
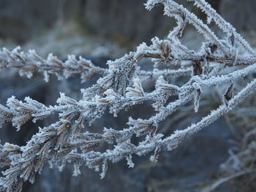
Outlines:
<svg viewBox="0 0 256 192"><path fill-rule="evenodd" d="M59 113L56 123L39 128L39 132L26 145L0 145L0 164L8 167L0 179L0 191L21 191L24 181L34 183L35 175L42 172L46 162L59 165L60 170L67 162L72 163L75 176L80 174L79 168L85 164L89 168L102 169L101 176L104 177L108 161L117 162L125 158L129 167L133 167L132 155L145 155L152 151L150 159L157 161L162 147L175 149L186 137L213 123L233 110L249 94L255 93L254 79L234 96L235 82L256 72L256 55L252 48L205 1L193 1L206 12L209 19L217 23L220 30L228 32L225 39L219 39L208 23L203 23L175 1L148 0L147 9L163 4L165 15L176 18L176 28L170 31L167 39L155 37L151 45L142 43L134 52L108 61L108 69L99 68L91 61L81 57L77 59L73 55L63 62L53 55L44 60L31 50L28 53L19 49L1 50L0 69L18 68L20 74L27 77L31 77L35 71L42 72L45 80L48 80L48 74L58 77L79 75L82 81L94 74L102 76L90 88L81 90L83 97L80 101L61 93L56 105L49 107L29 97L18 101L14 96L7 100L6 106L0 105L0 126L12 122L18 130L29 120L35 122ZM206 38L198 52L189 50L179 40L187 23L191 23ZM235 43L235 40L239 43ZM151 59L153 70L140 70L142 58ZM170 78L184 76L187 78L177 85ZM154 80L153 91L148 91L145 84ZM217 109L198 123L174 131L170 136L158 133L161 129L159 124L181 107L192 104L195 112L200 110L200 99L210 87L226 87ZM97 118L102 118L107 110L116 117L119 112L132 109L137 104L146 104L147 101L151 101L154 108L151 118L129 118L127 127L120 130L102 128L101 133L89 132L89 126ZM143 141L135 145L132 143L133 136ZM108 150L99 152L100 144L109 145Z"/></svg>

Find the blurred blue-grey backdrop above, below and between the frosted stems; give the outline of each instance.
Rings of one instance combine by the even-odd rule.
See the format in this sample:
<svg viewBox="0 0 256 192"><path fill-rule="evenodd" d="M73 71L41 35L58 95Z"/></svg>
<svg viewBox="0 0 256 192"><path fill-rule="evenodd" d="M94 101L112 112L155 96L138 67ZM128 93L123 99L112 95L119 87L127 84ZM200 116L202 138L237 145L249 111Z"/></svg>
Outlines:
<svg viewBox="0 0 256 192"><path fill-rule="evenodd" d="M205 15L192 4L184 0L178 2L204 19ZM208 2L252 46L256 46L255 0ZM20 45L23 51L34 49L43 58L53 53L63 60L68 54L83 55L94 64L105 66L108 59L135 50L141 42L150 43L155 36L165 38L175 26L175 20L162 15L162 7L148 12L143 3L145 1L142 0L0 0L0 47L12 50ZM189 47L195 47L200 40L202 37L197 37L195 31L185 34L183 39ZM60 91L80 99L80 88L91 85L91 82L80 84L79 78L58 81L51 77L48 83L42 79L42 76L35 75L28 80L19 77L15 70L1 70L1 104L5 104L12 95L20 100L31 96L44 104L54 104ZM209 98L216 101L214 96ZM208 101L205 104L209 104ZM170 118L163 123L165 134L170 134L177 127L184 128L195 123L200 116L207 114L209 109L204 109L193 118L187 118L190 116L186 109L183 114L175 114L174 120ZM134 115L138 115L136 110ZM19 132L11 125L4 126L0 130L1 142L25 145L31 135L38 131L38 126L47 126L53 121L54 117L36 125L26 123ZM125 122L127 118L101 119L94 127L101 130L103 126L118 127ZM61 173L46 165L36 183L27 183L23 191L198 191L218 177L219 165L229 157L228 150L241 135L238 125L232 124L231 127L230 122L222 118L187 139L177 150L162 151L157 164L148 161L148 156L135 157L135 169L129 169L124 161L110 164L103 180L99 179L99 173L86 167L80 176L72 177L72 165ZM236 187L226 184L219 191L236 191ZM250 185L250 190L251 187L254 186Z"/></svg>

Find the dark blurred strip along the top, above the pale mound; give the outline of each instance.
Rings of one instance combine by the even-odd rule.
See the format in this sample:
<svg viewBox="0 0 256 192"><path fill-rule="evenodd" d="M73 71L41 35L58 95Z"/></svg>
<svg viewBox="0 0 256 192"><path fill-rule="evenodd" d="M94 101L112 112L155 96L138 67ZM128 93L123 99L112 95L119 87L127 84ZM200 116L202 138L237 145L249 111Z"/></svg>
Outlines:
<svg viewBox="0 0 256 192"><path fill-rule="evenodd" d="M183 4L187 1L179 0ZM149 41L170 30L170 18L162 7L146 11L142 0L1 0L0 37L19 43L47 30L58 22L79 23L83 31L119 42ZM255 30L254 0L211 0L221 15L238 31ZM189 4L189 7L192 7ZM198 12L197 9L193 9Z"/></svg>

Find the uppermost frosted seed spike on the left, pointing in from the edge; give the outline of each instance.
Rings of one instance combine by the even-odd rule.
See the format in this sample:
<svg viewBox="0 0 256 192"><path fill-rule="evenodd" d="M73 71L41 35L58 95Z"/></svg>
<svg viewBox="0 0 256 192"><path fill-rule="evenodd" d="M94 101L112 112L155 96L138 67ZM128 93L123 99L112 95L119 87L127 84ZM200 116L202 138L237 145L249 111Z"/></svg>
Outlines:
<svg viewBox="0 0 256 192"><path fill-rule="evenodd" d="M67 61L61 61L52 53L45 60L34 50L27 53L20 52L20 47L10 51L7 48L0 50L0 69L18 68L20 76L31 78L35 71L41 72L48 82L49 74L56 74L59 79L80 75L82 82L95 74L104 74L105 69L94 66L91 61L75 55L69 55Z"/></svg>

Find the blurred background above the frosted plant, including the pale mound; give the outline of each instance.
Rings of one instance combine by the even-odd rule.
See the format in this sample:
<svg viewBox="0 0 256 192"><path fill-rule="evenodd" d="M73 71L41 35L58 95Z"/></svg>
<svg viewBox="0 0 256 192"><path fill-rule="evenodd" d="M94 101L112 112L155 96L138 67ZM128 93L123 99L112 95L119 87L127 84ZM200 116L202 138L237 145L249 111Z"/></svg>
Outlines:
<svg viewBox="0 0 256 192"><path fill-rule="evenodd" d="M149 42L154 36L165 37L173 28L174 20L162 16L162 7L156 7L148 12L143 6L144 2L143 0L1 0L1 45L7 46L9 41L12 46L26 47L26 44L31 43L29 47L37 47L37 49L39 47L39 50L54 47L51 51L56 54L72 47L72 53L84 54L95 52L95 47L100 53L104 51L104 45L111 42L113 47L110 46L110 50L105 54L116 56L119 50L115 50L116 43L121 47L132 49L140 42ZM178 2L188 4L183 0ZM246 33L255 31L256 1L208 0L208 2L238 31ZM195 7L192 8L192 4L188 7L195 13L199 12ZM58 45L65 42L67 45L58 50ZM101 49L99 45L102 45Z"/></svg>

